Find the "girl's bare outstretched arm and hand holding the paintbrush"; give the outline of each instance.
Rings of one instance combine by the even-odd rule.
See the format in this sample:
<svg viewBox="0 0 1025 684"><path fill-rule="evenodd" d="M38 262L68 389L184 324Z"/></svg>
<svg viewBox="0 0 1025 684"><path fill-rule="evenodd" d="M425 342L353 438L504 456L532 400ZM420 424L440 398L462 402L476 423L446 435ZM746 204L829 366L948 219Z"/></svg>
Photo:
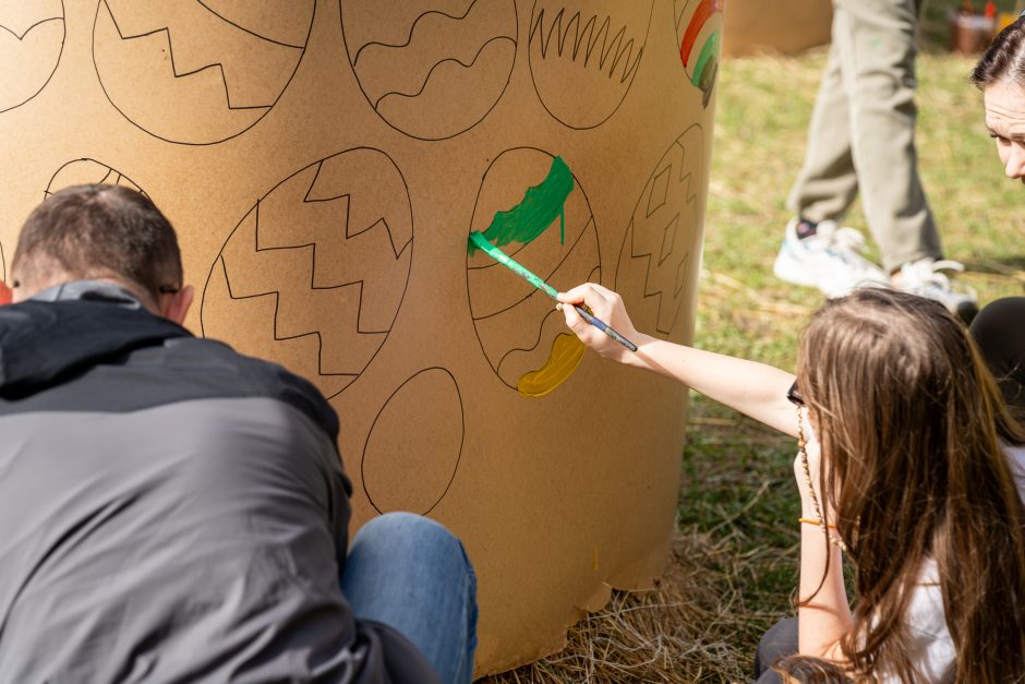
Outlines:
<svg viewBox="0 0 1025 684"><path fill-rule="evenodd" d="M793 374L764 363L674 345L642 335L630 322L623 299L600 285L588 283L575 287L560 293L558 299L564 304L588 307L595 317L611 325L638 347L636 352L631 352L587 323L571 305L563 305L566 325L583 344L603 357L677 380L755 420L797 436L795 409L786 399L786 392L794 383Z"/></svg>

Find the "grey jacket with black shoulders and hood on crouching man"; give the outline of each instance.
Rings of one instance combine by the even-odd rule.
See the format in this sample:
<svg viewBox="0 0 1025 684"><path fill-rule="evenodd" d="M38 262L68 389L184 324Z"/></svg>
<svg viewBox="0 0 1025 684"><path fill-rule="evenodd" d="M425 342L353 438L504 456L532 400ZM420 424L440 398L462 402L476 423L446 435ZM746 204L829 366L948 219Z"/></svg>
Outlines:
<svg viewBox="0 0 1025 684"><path fill-rule="evenodd" d="M337 431L114 286L0 308L0 683L436 681L339 589Z"/></svg>

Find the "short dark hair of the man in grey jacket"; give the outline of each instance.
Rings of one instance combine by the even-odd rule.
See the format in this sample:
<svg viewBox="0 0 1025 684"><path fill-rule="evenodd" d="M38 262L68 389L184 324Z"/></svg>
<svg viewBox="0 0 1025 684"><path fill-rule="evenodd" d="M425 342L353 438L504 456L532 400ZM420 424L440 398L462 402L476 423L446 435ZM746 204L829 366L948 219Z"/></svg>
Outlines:
<svg viewBox="0 0 1025 684"><path fill-rule="evenodd" d="M23 283L53 268L76 279L117 277L154 300L182 280L171 224L122 185L74 185L44 200L22 226L11 266Z"/></svg>

